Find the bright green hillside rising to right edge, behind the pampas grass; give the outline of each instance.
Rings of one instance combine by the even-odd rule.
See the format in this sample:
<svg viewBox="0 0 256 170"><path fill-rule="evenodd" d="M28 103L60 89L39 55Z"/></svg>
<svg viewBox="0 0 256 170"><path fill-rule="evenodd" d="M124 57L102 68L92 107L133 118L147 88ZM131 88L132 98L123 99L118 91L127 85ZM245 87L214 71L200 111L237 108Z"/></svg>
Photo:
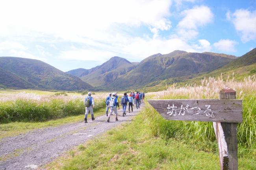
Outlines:
<svg viewBox="0 0 256 170"><path fill-rule="evenodd" d="M223 79L234 76L236 80L241 80L254 74L256 74L256 48L252 49L241 57L237 57L235 60L219 69L189 76L175 77L162 81L154 81L147 84L144 89L149 91L163 90L167 85L173 84L174 82L182 85L200 84L204 77L219 77L220 75L222 75Z"/></svg>

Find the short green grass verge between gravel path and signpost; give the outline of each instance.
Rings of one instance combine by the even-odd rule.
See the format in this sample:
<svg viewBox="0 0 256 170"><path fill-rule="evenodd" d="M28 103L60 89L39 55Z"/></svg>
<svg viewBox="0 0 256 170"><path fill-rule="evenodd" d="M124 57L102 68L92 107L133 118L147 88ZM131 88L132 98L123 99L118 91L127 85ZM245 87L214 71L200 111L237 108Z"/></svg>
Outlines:
<svg viewBox="0 0 256 170"><path fill-rule="evenodd" d="M63 157L41 169L46 170L219 170L217 143L215 151L185 138L153 135L148 109L130 124L112 129L98 139L81 144ZM154 126L153 125L153 126ZM239 147L239 170L254 170L255 154ZM243 152L241 156L241 152Z"/></svg>

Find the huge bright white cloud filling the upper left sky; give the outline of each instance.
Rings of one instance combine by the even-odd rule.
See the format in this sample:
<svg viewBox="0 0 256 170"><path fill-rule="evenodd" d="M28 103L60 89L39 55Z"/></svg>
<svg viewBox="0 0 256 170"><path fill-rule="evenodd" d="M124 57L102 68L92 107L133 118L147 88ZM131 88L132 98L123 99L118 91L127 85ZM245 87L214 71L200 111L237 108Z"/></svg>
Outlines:
<svg viewBox="0 0 256 170"><path fill-rule="evenodd" d="M39 32L65 40L81 36L100 39L104 38L102 32L112 30L115 24L131 27L144 24L168 30L171 27L170 6L171 0L2 1L0 16L5 17L0 18L0 36ZM10 9L15 12L10 13Z"/></svg>

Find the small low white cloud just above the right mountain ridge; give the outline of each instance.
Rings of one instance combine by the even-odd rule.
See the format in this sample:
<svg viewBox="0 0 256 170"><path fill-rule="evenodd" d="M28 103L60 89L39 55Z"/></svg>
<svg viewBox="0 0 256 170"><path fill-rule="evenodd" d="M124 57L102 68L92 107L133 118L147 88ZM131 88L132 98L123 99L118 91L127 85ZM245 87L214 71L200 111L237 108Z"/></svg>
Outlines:
<svg viewBox="0 0 256 170"><path fill-rule="evenodd" d="M224 52L235 52L235 45L238 44L234 40L229 40L229 39L222 39L219 40L218 42L215 42L213 46L219 50L219 51L224 51Z"/></svg>

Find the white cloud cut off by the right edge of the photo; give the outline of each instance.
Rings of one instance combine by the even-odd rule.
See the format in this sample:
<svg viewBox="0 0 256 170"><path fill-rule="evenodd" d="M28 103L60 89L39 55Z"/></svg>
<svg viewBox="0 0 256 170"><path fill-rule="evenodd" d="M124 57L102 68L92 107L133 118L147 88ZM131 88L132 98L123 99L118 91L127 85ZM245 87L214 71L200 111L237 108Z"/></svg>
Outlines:
<svg viewBox="0 0 256 170"><path fill-rule="evenodd" d="M242 42L256 40L256 11L238 9L232 14L228 11L226 18L234 24L236 31L241 33Z"/></svg>

